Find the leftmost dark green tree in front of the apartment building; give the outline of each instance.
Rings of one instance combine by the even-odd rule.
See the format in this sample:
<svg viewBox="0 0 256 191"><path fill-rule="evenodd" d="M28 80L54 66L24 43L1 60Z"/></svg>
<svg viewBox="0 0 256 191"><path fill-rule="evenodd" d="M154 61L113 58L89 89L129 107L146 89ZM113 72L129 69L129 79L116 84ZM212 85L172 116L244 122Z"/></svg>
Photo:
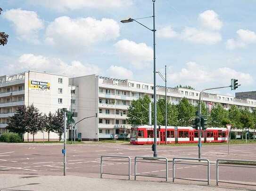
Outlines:
<svg viewBox="0 0 256 191"><path fill-rule="evenodd" d="M9 117L9 122L7 123L6 128L10 132L18 133L21 136L27 132L28 120L26 110L27 108L25 106L20 106L17 108L16 113Z"/></svg>

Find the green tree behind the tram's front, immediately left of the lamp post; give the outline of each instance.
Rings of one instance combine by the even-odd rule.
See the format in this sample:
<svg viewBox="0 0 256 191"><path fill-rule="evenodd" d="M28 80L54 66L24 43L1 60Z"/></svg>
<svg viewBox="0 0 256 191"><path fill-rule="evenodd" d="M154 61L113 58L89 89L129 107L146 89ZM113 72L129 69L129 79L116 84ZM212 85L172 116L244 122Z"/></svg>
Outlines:
<svg viewBox="0 0 256 191"><path fill-rule="evenodd" d="M132 125L148 124L149 123L149 103L151 102L149 96L145 95L143 98L132 100L128 108L127 121ZM153 107L153 104L152 104ZM152 117L153 118L153 117ZM141 121L140 121L141 120Z"/></svg>

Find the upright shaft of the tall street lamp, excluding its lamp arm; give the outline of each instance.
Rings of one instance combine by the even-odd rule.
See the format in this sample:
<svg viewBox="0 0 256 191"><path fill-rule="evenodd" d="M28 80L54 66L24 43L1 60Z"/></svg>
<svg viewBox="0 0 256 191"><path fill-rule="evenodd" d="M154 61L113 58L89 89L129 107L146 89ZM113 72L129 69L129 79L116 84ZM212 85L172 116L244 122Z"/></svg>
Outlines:
<svg viewBox="0 0 256 191"><path fill-rule="evenodd" d="M154 157L157 157L157 88L156 88L156 29L155 29L155 1L153 2L153 36L154 36Z"/></svg>

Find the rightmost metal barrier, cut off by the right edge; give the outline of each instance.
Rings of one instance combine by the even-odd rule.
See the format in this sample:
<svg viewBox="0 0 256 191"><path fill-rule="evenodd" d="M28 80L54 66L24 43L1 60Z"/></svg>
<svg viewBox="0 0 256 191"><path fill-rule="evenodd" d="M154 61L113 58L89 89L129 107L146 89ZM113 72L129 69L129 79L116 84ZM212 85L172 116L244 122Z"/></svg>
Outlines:
<svg viewBox="0 0 256 191"><path fill-rule="evenodd" d="M236 163L237 165L255 165L256 166L256 160L231 160L231 159L218 159L216 161L216 185L218 186L219 183L233 183L228 181L219 181L219 166L225 166L225 167L240 167L240 168L256 168L256 167L241 167L241 166L235 166L235 165L219 165L219 163ZM239 163L239 164L238 164ZM242 184L242 185L251 185L256 186L256 184L245 184L245 183L236 183L236 184Z"/></svg>

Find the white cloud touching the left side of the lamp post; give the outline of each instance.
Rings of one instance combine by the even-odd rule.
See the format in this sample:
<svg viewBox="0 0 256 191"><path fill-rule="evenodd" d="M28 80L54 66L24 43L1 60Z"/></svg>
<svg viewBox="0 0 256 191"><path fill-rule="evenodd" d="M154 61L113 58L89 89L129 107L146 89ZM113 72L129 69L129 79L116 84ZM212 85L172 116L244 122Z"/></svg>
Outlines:
<svg viewBox="0 0 256 191"><path fill-rule="evenodd" d="M127 39L119 40L115 45L122 60L127 60L137 68L147 67L153 60L153 49L145 43L135 43Z"/></svg>

